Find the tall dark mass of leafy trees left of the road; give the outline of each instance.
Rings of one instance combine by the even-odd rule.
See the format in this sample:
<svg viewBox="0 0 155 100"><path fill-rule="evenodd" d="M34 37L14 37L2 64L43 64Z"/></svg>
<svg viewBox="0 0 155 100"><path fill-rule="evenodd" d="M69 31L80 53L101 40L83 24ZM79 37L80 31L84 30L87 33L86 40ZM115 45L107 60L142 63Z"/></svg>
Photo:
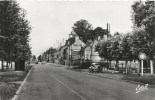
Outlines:
<svg viewBox="0 0 155 100"><path fill-rule="evenodd" d="M14 0L0 2L0 60L15 62L15 70L25 70L25 61L31 57L29 34L31 26L26 12Z"/></svg>

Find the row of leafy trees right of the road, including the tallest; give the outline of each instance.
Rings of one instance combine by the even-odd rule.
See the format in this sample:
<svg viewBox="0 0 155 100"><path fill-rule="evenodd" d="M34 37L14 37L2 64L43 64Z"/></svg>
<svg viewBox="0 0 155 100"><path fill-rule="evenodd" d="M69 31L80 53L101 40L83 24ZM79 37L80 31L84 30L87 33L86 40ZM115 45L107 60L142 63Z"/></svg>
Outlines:
<svg viewBox="0 0 155 100"><path fill-rule="evenodd" d="M134 2L132 11L133 32L115 33L96 46L100 57L116 61L116 69L119 68L119 60L124 60L126 64L127 61L139 60L140 52L147 55L147 60L153 60L154 57L155 2Z"/></svg>

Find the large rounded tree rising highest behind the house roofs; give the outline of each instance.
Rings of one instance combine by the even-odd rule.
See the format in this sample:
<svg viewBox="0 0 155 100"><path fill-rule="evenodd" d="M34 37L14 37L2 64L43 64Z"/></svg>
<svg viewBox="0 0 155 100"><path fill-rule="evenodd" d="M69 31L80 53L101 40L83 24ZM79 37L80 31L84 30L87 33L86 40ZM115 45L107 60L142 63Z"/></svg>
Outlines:
<svg viewBox="0 0 155 100"><path fill-rule="evenodd" d="M91 30L93 30L93 27L87 20L81 19L74 23L72 29L80 38L82 38L83 42L86 43L88 35L91 33Z"/></svg>

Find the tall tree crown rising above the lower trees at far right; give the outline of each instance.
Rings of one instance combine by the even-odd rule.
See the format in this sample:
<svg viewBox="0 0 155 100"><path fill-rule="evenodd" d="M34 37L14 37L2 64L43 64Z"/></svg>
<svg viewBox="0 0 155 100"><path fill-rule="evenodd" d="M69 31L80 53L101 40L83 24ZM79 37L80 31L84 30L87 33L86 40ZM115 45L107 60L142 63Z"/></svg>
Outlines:
<svg viewBox="0 0 155 100"><path fill-rule="evenodd" d="M154 39L154 30L155 30L155 2L146 1L136 1L132 5L132 21L134 28L144 27L147 34Z"/></svg>

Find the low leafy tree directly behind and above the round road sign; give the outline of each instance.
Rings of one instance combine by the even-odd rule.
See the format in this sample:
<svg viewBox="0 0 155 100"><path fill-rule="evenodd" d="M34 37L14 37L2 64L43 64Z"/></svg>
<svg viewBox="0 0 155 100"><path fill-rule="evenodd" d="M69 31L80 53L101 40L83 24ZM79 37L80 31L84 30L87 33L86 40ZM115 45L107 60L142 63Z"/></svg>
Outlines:
<svg viewBox="0 0 155 100"><path fill-rule="evenodd" d="M140 52L146 53L150 59L153 59L153 42L150 42L149 35L145 32L144 29L138 28L134 31L132 40L132 53L136 55L136 59L138 59L138 55Z"/></svg>

